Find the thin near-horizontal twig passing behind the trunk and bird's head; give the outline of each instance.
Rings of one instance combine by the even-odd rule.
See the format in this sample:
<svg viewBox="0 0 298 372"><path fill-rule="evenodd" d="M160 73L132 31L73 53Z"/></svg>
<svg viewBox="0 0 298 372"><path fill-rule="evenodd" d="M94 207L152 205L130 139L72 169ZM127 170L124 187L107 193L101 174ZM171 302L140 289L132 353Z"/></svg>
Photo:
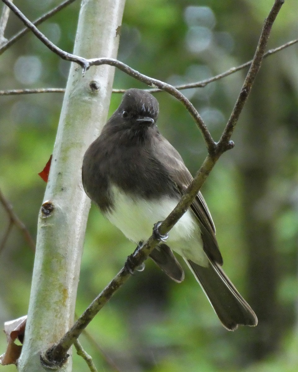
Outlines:
<svg viewBox="0 0 298 372"><path fill-rule="evenodd" d="M291 45L296 44L297 42L298 42L298 39L291 40L291 41L289 41L289 42L287 42L283 45L280 45L277 48L270 49L269 51L267 51L263 55L263 59L268 57L269 55L272 55L276 52L281 51L282 49L288 48ZM178 90L190 89L190 88L203 88L207 84L213 83L213 81L220 80L223 77L234 74L235 72L240 71L243 68L250 66L252 61L253 60L247 61L247 62L245 62L242 65L239 65L237 67L231 67L231 68L229 68L229 70L227 70L227 71L225 71L221 74L212 76L208 79L196 81L194 83L188 83L188 84L183 84L183 85L175 85L174 87ZM126 90L127 89L113 89L112 93L125 93ZM146 90L147 92L150 92L150 93L163 92L163 90L161 90L161 89L144 89L144 90ZM64 92L65 92L64 88L10 89L10 90L0 90L0 96L13 96L13 95L17 95L17 94L34 94L34 93L64 93Z"/></svg>

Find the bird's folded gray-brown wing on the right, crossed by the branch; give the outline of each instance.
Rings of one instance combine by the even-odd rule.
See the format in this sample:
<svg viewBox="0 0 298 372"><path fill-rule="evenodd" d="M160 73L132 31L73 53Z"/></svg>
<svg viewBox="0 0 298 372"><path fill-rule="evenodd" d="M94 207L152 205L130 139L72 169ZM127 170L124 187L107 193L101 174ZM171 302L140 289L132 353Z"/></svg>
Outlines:
<svg viewBox="0 0 298 372"><path fill-rule="evenodd" d="M190 172L184 164L178 151L161 135L156 138L154 146L155 156L169 172L172 181L177 187L180 195L186 191L193 180ZM218 243L215 237L215 226L201 192L198 192L196 198L190 206L199 222L202 234L203 248L209 259L222 265L222 256L219 251Z"/></svg>

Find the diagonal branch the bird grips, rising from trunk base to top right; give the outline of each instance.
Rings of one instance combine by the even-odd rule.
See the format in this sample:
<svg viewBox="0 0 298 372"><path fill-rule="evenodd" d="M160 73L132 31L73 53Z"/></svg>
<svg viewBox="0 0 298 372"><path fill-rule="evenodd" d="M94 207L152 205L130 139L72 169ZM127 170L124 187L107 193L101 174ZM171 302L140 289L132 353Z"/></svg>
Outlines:
<svg viewBox="0 0 298 372"><path fill-rule="evenodd" d="M186 193L182 196L180 202L174 208L174 210L169 214L169 216L162 222L159 227L159 232L161 234L167 233L178 221L179 218L187 211L190 207L191 202L194 197L199 192L200 187L203 185L208 174L214 167L218 158L232 146L229 140L230 133L235 129L236 122L239 118L240 112L247 100L248 93L251 90L251 86L256 78L256 74L259 71L261 60L264 54L264 48L266 47L269 34L272 28L272 24L283 4L283 0L275 0L273 7L269 13L269 16L264 22L264 26L261 32L259 44L256 49L256 53L251 64L251 68L248 71L247 77L245 78L243 87L237 99L235 105L236 109L233 110L231 119L229 120L227 127L223 133L221 142L216 146L216 151L210 155L208 154L204 163L202 164L200 170L197 172L196 177L194 177L193 182L187 188ZM245 92L245 94L243 93ZM238 103L239 102L239 103ZM234 114L235 112L235 114ZM230 124L231 121L231 124ZM231 128L230 128L231 127ZM132 270L135 270L150 254L153 248L158 244L155 235L152 234L150 238L142 245L142 247L137 247L134 253L129 257L129 266ZM120 286L126 282L130 277L130 272L127 269L127 265L120 270L120 272L115 276L114 279L105 287L105 289L99 294L92 302L91 305L86 309L82 316L76 321L73 327L62 337L60 342L52 346L47 351L43 352L41 355L41 361L44 366L59 366L67 359L67 351L75 342L77 337L82 333L83 329L90 323L90 321L95 317L98 311L105 305L105 303L112 297L112 295L117 291Z"/></svg>

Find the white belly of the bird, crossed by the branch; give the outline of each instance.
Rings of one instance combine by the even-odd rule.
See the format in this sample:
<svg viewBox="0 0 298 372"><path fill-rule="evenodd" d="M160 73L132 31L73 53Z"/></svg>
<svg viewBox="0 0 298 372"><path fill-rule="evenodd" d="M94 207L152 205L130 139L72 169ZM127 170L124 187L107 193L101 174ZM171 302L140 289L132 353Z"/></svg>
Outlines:
<svg viewBox="0 0 298 372"><path fill-rule="evenodd" d="M131 198L117 186L112 186L112 192L114 210L107 212L105 216L136 244L146 241L152 234L153 225L163 221L179 201L178 198L173 200L167 196L156 199L154 203L140 198ZM207 263L199 228L190 211L187 211L169 232L167 243L181 256L204 266Z"/></svg>

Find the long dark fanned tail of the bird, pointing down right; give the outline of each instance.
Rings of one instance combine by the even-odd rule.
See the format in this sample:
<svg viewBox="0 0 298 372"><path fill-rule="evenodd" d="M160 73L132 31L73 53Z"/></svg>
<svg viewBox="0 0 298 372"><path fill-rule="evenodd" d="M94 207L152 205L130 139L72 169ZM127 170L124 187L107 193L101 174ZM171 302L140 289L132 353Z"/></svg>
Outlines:
<svg viewBox="0 0 298 372"><path fill-rule="evenodd" d="M256 314L218 264L210 261L208 267L203 267L184 260L226 329L234 331L239 324L257 325Z"/></svg>

